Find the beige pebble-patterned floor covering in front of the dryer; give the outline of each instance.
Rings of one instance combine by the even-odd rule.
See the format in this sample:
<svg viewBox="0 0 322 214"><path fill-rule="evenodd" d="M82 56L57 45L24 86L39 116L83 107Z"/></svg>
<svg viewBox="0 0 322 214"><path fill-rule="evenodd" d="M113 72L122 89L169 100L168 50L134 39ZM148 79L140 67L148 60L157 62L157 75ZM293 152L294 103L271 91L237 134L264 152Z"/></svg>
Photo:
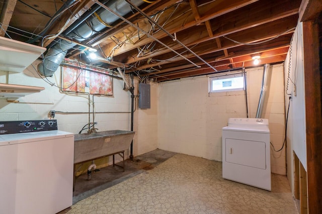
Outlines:
<svg viewBox="0 0 322 214"><path fill-rule="evenodd" d="M176 154L61 213L298 213L285 176L272 191L225 180L221 162Z"/></svg>

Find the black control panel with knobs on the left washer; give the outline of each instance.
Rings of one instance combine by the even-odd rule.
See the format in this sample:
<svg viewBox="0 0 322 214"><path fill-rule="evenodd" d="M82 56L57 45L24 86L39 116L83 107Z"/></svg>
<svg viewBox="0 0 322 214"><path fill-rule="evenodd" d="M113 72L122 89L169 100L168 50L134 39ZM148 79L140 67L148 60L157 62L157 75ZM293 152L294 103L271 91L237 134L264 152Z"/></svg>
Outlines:
<svg viewBox="0 0 322 214"><path fill-rule="evenodd" d="M57 130L57 120L0 122L0 135Z"/></svg>

